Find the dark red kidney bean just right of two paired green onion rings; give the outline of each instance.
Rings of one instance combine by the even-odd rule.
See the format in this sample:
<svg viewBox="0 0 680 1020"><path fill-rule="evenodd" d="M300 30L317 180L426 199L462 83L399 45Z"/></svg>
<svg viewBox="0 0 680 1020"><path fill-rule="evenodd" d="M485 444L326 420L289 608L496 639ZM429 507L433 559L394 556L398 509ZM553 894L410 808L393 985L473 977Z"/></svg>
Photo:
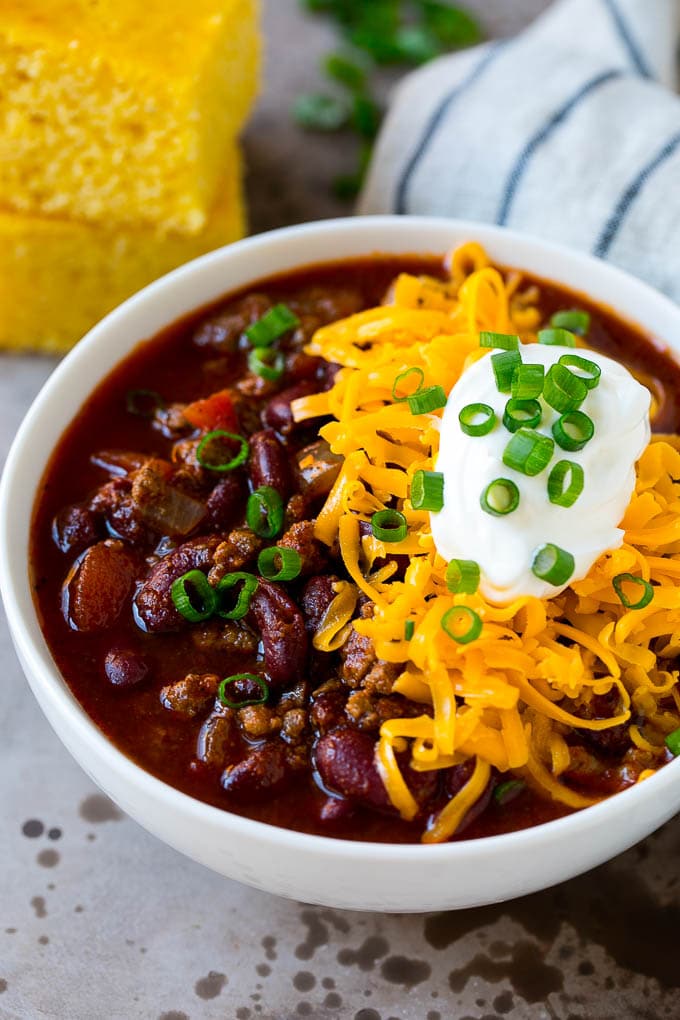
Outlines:
<svg viewBox="0 0 680 1020"><path fill-rule="evenodd" d="M282 588L262 577L259 581L248 620L262 636L264 665L271 685L283 687L298 679L305 668L305 620Z"/></svg>

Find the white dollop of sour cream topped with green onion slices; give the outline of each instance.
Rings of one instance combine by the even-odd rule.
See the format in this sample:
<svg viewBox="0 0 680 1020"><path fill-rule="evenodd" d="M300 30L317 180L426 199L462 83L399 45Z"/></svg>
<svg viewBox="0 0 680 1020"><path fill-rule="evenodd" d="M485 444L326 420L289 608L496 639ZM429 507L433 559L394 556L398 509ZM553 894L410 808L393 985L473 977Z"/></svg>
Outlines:
<svg viewBox="0 0 680 1020"><path fill-rule="evenodd" d="M556 444L551 463L529 477L503 463L512 434L503 424L510 394L499 393L490 357L474 362L452 390L441 418L435 469L443 474L443 507L430 515L434 542L447 560L475 560L480 568L479 591L490 602L506 604L526 595L551 598L573 580L584 577L607 550L618 548L623 517L635 487L635 462L649 442L649 392L618 362L593 351L542 344L520 345L522 361L542 364L545 371L564 354L578 354L600 368L599 384L581 405L594 424L594 435L582 450L566 451ZM467 436L459 414L468 404L483 403L495 411L486 436ZM557 411L540 398L542 420L536 431L552 436ZM571 507L551 503L547 477L560 460L576 461L584 472L583 491ZM480 496L494 478L511 478L520 493L512 513L493 516ZM534 554L553 543L572 554L574 572L561 588L537 577Z"/></svg>

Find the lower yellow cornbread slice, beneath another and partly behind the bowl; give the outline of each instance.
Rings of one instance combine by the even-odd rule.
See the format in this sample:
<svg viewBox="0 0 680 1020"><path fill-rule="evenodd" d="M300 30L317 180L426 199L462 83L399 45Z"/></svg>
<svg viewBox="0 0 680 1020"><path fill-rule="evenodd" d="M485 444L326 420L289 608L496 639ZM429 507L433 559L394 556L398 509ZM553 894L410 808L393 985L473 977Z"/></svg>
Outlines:
<svg viewBox="0 0 680 1020"><path fill-rule="evenodd" d="M233 159L206 226L192 237L0 211L0 348L66 351L140 288L243 237Z"/></svg>

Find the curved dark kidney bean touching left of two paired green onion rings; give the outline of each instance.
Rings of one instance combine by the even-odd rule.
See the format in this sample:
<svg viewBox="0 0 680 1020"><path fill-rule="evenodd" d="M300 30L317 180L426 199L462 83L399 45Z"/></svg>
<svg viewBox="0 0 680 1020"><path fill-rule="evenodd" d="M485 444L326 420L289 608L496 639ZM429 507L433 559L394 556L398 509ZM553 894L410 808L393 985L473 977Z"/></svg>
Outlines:
<svg viewBox="0 0 680 1020"><path fill-rule="evenodd" d="M142 629L157 633L178 630L186 625L187 621L172 603L172 581L189 570L206 572L221 542L217 534L191 539L156 564L135 598L137 618Z"/></svg>

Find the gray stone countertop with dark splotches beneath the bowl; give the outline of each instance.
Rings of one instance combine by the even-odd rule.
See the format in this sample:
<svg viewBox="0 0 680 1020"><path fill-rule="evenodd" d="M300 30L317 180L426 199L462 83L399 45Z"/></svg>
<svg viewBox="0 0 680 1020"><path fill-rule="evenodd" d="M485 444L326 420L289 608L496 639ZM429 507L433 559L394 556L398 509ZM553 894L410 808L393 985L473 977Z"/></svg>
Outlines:
<svg viewBox="0 0 680 1020"><path fill-rule="evenodd" d="M499 35L545 0L470 6ZM294 0L269 0L266 33L267 88L247 138L253 228L345 214L327 182L349 168L349 141L299 135L286 114L314 87L328 33L303 26ZM0 463L53 364L0 359ZM123 817L43 718L4 617L0 662L1 1020L680 1016L680 819L590 874L501 906L311 908L220 878Z"/></svg>

